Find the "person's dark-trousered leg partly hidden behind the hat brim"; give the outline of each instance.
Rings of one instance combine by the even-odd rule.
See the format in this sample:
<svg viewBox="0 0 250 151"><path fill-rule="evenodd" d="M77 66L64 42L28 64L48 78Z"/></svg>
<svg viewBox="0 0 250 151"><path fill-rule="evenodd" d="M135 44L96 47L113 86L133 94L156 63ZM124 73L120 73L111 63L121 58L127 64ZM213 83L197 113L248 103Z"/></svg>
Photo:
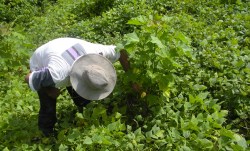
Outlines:
<svg viewBox="0 0 250 151"><path fill-rule="evenodd" d="M74 104L77 106L78 111L80 113L82 113L83 107L85 107L87 104L89 104L90 101L79 96L72 87L67 87L67 90L68 90L68 93L70 94L72 100L74 101Z"/></svg>

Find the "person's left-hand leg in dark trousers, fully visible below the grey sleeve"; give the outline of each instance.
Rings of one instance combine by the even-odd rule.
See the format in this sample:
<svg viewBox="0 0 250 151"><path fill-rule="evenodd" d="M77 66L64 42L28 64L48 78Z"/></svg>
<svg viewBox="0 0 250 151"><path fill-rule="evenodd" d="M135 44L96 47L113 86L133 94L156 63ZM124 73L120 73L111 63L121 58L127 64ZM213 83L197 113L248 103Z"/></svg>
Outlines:
<svg viewBox="0 0 250 151"><path fill-rule="evenodd" d="M51 88L41 88L38 91L40 110L38 126L45 136L53 135L56 118L56 97L51 97L48 91ZM56 88L54 88L56 89Z"/></svg>

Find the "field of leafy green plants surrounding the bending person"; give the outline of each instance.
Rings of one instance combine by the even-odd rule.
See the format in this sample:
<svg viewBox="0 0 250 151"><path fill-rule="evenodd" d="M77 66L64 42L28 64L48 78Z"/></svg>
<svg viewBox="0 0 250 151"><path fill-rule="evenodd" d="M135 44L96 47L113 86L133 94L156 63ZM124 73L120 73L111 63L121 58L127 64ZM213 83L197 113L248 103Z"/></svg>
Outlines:
<svg viewBox="0 0 250 151"><path fill-rule="evenodd" d="M2 0L0 150L249 150L249 8L248 0ZM33 51L58 37L124 48L131 70L115 63L113 94L83 113L62 89L58 135L44 137L24 77Z"/></svg>

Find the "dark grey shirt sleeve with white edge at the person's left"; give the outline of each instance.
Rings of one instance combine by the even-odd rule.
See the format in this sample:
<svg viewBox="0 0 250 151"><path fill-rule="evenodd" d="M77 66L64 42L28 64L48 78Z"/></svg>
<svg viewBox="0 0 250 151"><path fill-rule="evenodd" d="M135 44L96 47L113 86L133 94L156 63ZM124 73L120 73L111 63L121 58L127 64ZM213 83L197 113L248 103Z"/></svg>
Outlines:
<svg viewBox="0 0 250 151"><path fill-rule="evenodd" d="M33 71L29 77L29 87L33 91L39 90L41 87L55 86L52 76L48 68Z"/></svg>

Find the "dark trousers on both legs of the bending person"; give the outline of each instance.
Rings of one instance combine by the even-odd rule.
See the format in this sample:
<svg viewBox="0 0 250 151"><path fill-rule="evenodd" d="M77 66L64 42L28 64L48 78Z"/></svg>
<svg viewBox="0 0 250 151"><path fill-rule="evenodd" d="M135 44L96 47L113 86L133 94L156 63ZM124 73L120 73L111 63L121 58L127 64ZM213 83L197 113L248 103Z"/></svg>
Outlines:
<svg viewBox="0 0 250 151"><path fill-rule="evenodd" d="M77 106L79 112L82 112L82 108L90 103L79 96L72 87L67 87L67 91L70 94L74 104ZM38 96L40 100L40 110L38 116L38 127L39 129L48 136L53 133L56 118L56 98L48 95L48 90L46 88L41 88L38 91Z"/></svg>

